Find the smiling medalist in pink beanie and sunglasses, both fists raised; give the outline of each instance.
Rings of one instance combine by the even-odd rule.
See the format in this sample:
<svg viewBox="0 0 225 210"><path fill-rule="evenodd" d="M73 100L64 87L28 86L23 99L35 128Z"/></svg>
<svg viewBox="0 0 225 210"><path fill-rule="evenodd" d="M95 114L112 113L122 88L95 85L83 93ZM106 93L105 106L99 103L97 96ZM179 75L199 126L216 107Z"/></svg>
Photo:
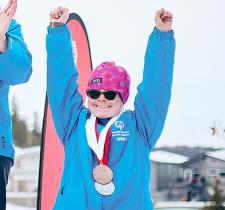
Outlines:
<svg viewBox="0 0 225 210"><path fill-rule="evenodd" d="M149 154L162 133L171 98L172 14L156 12L134 111L123 111L130 77L114 62L104 62L92 72L88 108L83 105L68 14L63 7L50 13L46 38L47 94L65 152L53 209L151 210Z"/></svg>

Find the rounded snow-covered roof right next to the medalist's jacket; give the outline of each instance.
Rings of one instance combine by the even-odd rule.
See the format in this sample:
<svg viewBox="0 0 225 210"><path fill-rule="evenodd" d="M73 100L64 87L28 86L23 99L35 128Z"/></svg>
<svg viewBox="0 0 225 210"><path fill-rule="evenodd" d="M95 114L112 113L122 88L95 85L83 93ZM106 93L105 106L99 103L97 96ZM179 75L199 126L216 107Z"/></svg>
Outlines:
<svg viewBox="0 0 225 210"><path fill-rule="evenodd" d="M169 164L181 164L189 160L187 156L162 150L151 152L150 159L154 162Z"/></svg>

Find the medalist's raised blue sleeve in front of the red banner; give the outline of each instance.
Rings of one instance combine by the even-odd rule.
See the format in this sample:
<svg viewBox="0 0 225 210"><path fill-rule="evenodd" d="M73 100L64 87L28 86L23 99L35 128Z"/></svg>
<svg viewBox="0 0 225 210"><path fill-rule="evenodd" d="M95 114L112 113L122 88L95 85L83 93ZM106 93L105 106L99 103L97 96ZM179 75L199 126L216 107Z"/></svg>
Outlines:
<svg viewBox="0 0 225 210"><path fill-rule="evenodd" d="M65 145L83 107L68 26L49 27L46 47L47 95L57 134Z"/></svg>

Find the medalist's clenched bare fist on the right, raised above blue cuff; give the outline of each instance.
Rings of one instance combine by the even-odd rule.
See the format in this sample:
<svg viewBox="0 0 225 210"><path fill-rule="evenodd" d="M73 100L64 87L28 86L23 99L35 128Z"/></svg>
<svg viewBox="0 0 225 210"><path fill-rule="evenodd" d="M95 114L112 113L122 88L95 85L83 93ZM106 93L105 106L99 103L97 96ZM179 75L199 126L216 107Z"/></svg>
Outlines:
<svg viewBox="0 0 225 210"><path fill-rule="evenodd" d="M156 11L155 14L155 26L157 29L163 32L172 30L173 14L165 9Z"/></svg>

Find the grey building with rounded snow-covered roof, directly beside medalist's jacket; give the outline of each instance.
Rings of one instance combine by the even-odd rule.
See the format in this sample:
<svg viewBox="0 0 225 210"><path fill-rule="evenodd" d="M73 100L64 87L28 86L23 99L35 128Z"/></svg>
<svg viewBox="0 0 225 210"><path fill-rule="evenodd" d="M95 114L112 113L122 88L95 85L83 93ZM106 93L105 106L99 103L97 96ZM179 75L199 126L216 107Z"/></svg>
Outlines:
<svg viewBox="0 0 225 210"><path fill-rule="evenodd" d="M156 150L150 154L151 184L150 190L154 201L179 200L183 195L183 185L179 180L183 176L180 165L188 157L175 153ZM180 192L182 191L182 192Z"/></svg>

